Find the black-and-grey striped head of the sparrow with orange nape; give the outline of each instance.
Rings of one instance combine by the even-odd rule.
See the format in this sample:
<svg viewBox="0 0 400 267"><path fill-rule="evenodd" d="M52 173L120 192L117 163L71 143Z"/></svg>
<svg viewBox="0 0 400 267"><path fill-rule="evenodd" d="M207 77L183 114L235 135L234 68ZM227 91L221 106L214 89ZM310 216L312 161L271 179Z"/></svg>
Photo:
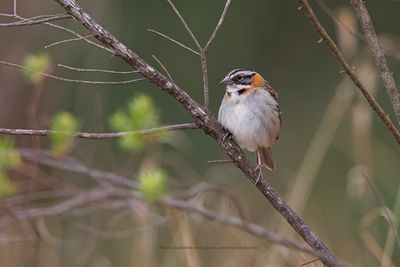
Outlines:
<svg viewBox="0 0 400 267"><path fill-rule="evenodd" d="M226 85L226 91L233 93L265 86L264 78L255 71L234 69L220 82Z"/></svg>

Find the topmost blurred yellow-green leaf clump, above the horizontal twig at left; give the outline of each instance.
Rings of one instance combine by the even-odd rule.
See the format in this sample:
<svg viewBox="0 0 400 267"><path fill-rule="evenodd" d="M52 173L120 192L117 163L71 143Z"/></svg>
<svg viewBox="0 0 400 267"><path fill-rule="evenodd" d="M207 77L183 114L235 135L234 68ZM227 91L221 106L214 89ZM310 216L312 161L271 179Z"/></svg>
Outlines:
<svg viewBox="0 0 400 267"><path fill-rule="evenodd" d="M42 82L44 76L41 74L50 68L51 58L47 53L37 55L29 54L25 56L21 70L22 75L32 84L36 85Z"/></svg>

